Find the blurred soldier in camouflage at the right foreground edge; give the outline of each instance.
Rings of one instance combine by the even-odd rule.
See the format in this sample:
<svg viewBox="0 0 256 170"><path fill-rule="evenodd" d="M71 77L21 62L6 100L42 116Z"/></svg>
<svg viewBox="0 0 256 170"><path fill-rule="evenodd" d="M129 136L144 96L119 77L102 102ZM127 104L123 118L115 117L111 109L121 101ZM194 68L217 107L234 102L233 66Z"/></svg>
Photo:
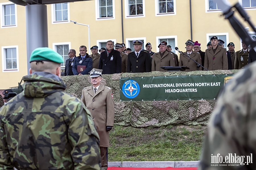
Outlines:
<svg viewBox="0 0 256 170"><path fill-rule="evenodd" d="M256 168L256 63L239 72L218 98L199 169Z"/></svg>

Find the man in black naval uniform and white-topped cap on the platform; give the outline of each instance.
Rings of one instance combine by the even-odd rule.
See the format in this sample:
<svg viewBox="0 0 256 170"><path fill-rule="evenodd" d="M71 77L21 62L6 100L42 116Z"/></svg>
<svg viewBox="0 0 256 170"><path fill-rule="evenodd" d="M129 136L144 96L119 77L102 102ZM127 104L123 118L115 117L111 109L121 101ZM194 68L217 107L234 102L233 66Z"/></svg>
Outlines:
<svg viewBox="0 0 256 170"><path fill-rule="evenodd" d="M151 72L152 60L148 51L141 50L142 44L140 40L133 41L135 51L128 54L127 73Z"/></svg>

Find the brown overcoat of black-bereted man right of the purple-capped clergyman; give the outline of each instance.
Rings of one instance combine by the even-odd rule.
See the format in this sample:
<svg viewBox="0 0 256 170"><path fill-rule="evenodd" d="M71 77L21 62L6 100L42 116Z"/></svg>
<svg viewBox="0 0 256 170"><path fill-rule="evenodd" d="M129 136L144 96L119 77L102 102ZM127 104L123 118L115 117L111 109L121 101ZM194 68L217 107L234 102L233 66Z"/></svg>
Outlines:
<svg viewBox="0 0 256 170"><path fill-rule="evenodd" d="M213 54L213 48L205 50L205 65L208 70L227 70L228 69L228 56L226 48L217 46Z"/></svg>

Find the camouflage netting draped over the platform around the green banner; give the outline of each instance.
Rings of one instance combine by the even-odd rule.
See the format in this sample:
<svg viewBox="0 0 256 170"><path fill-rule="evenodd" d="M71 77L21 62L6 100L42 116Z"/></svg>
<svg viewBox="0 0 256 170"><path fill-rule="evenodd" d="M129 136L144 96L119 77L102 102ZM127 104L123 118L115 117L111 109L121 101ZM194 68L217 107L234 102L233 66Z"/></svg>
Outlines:
<svg viewBox="0 0 256 170"><path fill-rule="evenodd" d="M146 76L177 76L177 75L214 75L234 74L239 70L216 71L169 71L150 73L120 73L103 75L101 83L112 88L115 101L115 118L117 125L146 127L164 126L168 124L207 125L209 117L216 104L215 100L179 100L179 101L120 101L120 77L146 77ZM82 89L90 86L90 77L62 76L67 84L65 92L81 98Z"/></svg>

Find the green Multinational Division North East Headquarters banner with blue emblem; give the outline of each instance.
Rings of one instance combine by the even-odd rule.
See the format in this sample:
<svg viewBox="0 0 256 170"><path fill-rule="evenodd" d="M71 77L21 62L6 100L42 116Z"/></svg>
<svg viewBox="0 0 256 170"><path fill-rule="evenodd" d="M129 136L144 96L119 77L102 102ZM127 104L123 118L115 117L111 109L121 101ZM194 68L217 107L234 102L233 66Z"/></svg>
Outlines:
<svg viewBox="0 0 256 170"><path fill-rule="evenodd" d="M230 75L121 77L120 101L215 100Z"/></svg>

